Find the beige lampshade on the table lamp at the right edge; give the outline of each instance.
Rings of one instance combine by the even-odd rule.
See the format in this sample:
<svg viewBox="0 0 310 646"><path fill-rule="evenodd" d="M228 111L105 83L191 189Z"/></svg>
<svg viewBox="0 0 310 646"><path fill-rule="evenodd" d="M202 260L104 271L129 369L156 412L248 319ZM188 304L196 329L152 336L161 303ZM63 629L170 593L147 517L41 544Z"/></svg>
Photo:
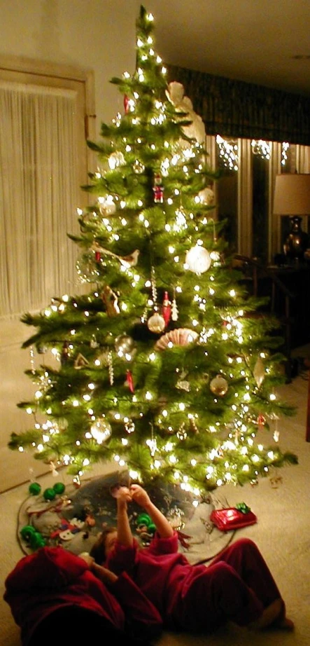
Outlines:
<svg viewBox="0 0 310 646"><path fill-rule="evenodd" d="M310 215L310 173L276 175L274 214Z"/></svg>

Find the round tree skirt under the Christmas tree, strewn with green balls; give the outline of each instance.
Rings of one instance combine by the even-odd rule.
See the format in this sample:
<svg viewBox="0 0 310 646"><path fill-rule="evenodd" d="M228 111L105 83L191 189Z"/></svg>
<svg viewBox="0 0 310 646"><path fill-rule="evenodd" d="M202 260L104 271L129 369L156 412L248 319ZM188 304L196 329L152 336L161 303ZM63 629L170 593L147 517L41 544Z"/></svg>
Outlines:
<svg viewBox="0 0 310 646"><path fill-rule="evenodd" d="M29 495L22 502L17 519L22 551L31 554L43 544L60 544L73 554L90 551L98 533L107 525L116 524L113 492L128 483L127 472L112 472L84 481L79 488L57 482L54 488ZM149 488L148 494L178 531L179 549L190 563L209 561L234 537L234 531L220 531L210 519L213 509L230 506L225 498L207 495L194 507L190 493L164 482ZM51 499L46 500L45 495ZM133 535L146 547L155 526L134 502L129 504L128 513Z"/></svg>

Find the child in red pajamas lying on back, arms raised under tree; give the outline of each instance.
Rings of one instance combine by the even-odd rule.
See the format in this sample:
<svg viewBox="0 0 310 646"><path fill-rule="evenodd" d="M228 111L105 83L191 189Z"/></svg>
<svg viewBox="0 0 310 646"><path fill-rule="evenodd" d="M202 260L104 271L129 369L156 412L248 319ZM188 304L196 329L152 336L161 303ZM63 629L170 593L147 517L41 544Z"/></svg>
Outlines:
<svg viewBox="0 0 310 646"><path fill-rule="evenodd" d="M148 513L157 532L149 547L132 536L127 503ZM117 528L102 532L90 552L115 573L127 572L162 615L164 626L211 633L227 621L253 630L293 630L267 563L246 538L227 547L211 564L191 565L178 552L178 535L141 486L122 487Z"/></svg>

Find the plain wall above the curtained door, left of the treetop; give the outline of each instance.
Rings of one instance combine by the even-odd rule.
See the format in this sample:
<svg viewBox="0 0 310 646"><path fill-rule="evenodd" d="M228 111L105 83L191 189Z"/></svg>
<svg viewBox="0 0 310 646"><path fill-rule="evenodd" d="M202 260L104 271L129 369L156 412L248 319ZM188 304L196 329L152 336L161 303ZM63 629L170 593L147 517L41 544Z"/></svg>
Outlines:
<svg viewBox="0 0 310 646"><path fill-rule="evenodd" d="M0 0L0 55L94 70L97 130L122 111L112 76L134 71L140 3L125 0Z"/></svg>

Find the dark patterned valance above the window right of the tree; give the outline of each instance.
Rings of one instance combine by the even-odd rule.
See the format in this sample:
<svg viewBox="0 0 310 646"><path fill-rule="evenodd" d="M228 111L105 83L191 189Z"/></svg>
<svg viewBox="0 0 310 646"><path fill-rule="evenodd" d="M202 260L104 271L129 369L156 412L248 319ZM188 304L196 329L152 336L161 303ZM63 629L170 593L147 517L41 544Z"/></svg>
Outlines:
<svg viewBox="0 0 310 646"><path fill-rule="evenodd" d="M310 145L310 98L263 85L168 66L209 135Z"/></svg>

